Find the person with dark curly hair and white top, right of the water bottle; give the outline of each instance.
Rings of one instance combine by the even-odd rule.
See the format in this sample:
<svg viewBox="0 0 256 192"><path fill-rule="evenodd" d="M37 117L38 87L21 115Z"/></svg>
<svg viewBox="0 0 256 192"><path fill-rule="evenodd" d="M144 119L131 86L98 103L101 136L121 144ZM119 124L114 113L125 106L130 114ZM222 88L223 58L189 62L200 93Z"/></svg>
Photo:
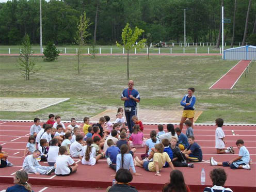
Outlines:
<svg viewBox="0 0 256 192"><path fill-rule="evenodd" d="M205 187L203 192L233 192L230 188L223 187L227 180L227 174L224 169L211 170L210 178L213 182L213 187Z"/></svg>

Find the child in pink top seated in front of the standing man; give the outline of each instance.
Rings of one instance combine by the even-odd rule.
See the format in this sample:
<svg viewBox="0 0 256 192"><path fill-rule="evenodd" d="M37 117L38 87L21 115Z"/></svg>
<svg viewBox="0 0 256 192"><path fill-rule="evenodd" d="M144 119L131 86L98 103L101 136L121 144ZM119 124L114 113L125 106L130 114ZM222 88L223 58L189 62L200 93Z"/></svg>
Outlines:
<svg viewBox="0 0 256 192"><path fill-rule="evenodd" d="M132 148L145 147L145 139L143 138L143 133L139 129L139 125L136 124L133 126L133 133L129 140L129 144Z"/></svg>

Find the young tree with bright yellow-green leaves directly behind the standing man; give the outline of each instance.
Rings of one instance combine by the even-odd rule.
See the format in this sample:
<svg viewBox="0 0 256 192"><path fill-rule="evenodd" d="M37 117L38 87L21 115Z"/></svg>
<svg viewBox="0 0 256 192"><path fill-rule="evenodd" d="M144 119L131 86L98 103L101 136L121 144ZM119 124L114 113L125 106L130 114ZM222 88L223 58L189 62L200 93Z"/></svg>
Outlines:
<svg viewBox="0 0 256 192"><path fill-rule="evenodd" d="M129 23L123 28L122 32L122 41L123 45L117 43L118 47L123 46L124 49L127 51L127 79L129 79L129 51L133 48L140 49L143 47L144 43L146 43L146 39L141 39L139 42L136 43L138 37L144 32L144 30L139 29L137 26L135 27L134 31L129 27Z"/></svg>

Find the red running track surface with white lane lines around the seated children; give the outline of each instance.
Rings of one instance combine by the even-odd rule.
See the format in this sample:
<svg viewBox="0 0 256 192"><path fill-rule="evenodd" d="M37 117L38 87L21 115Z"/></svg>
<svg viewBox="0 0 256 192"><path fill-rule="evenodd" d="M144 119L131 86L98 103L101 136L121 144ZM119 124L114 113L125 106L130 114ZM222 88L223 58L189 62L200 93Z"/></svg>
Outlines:
<svg viewBox="0 0 256 192"><path fill-rule="evenodd" d="M0 121L0 145L3 146L3 151L9 153L9 161L14 164L13 167L5 167L0 169L0 191L6 189L6 186L13 184L13 175L16 171L22 170L22 163L24 158L24 149L28 140L29 129L33 122L10 122ZM164 125L166 131L166 125ZM237 139L243 139L245 146L250 152L253 164L251 170L237 169L232 170L229 167L222 167L228 174L228 179L225 184L234 192L238 191L255 191L256 190L256 125L226 125L223 126L223 131L226 134L227 146L233 146L235 154L216 154L215 146L215 129L213 125L195 125L194 134L196 142L202 148L203 162L195 163L194 168L181 167L176 168L183 172L185 182L189 185L191 191L202 191L205 186L200 184L200 174L202 168L206 172L206 185L211 186L212 182L209 173L213 168L210 166L209 159L213 156L218 162L229 161L238 156L238 149L235 146ZM145 125L143 131L144 137L149 138L151 130L157 130L157 125ZM82 130L81 130L82 131ZM185 133L186 129L183 129ZM137 149L135 156L145 153L146 148ZM80 160L74 158L78 163L78 171L69 177L57 177L52 174L36 175L29 174L29 183L35 187L35 191L52 191L56 187L67 187L61 191L70 191L68 187L83 187L93 188L91 191L103 191L107 186L111 185L111 174L115 171L107 166L106 159L100 159L95 166L82 165ZM41 165L47 166L46 162L40 162ZM141 173L141 176L134 176L131 185L136 186L139 191L161 190L163 185L169 181L170 168L163 168L161 170L161 177L154 176L154 172L148 172L142 168L136 167L136 172ZM5 188L3 188L5 187ZM42 190L44 188L44 190ZM84 190L87 191L87 190ZM90 190L88 190L90 191Z"/></svg>

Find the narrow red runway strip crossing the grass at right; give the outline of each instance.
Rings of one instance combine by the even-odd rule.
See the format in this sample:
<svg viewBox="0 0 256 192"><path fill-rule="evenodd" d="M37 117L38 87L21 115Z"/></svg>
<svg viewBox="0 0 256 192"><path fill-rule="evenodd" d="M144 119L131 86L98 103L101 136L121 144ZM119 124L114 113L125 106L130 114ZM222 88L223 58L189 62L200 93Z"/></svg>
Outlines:
<svg viewBox="0 0 256 192"><path fill-rule="evenodd" d="M251 60L241 60L225 75L215 82L209 89L232 89L238 79L243 75Z"/></svg>

